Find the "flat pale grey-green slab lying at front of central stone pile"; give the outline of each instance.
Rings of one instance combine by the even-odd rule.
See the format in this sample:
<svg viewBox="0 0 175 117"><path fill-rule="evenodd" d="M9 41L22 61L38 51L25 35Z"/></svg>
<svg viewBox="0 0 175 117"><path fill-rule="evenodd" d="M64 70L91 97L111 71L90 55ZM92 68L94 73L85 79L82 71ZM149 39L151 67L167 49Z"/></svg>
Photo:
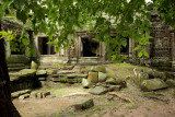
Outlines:
<svg viewBox="0 0 175 117"><path fill-rule="evenodd" d="M94 94L94 95L102 95L102 94L105 94L108 90L106 87L103 87L103 86L96 86L94 89L92 89L90 91L91 94Z"/></svg>

